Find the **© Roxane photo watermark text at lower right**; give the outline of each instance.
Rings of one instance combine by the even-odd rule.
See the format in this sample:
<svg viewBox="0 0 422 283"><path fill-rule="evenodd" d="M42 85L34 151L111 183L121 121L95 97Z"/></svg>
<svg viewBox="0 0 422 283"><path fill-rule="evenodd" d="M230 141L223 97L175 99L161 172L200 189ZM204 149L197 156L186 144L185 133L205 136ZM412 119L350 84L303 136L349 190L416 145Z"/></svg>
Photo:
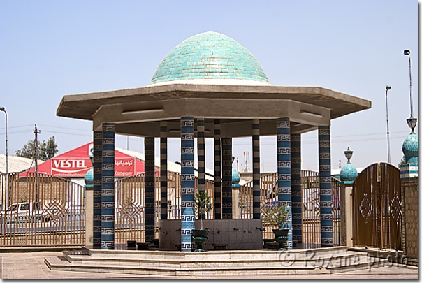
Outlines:
<svg viewBox="0 0 422 283"><path fill-rule="evenodd" d="M393 267L408 265L407 258L402 253L395 251L383 256L381 250L376 254L367 255L363 252L349 254L319 254L315 250L307 249L305 252L280 251L279 260L282 266L304 266L309 268L372 268Z"/></svg>

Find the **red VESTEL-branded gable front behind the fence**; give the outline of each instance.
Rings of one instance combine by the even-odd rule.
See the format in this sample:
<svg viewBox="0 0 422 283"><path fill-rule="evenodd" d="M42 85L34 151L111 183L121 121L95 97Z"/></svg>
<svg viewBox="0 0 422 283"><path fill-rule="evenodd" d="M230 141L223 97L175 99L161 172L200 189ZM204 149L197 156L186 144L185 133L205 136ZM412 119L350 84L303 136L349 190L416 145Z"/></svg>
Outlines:
<svg viewBox="0 0 422 283"><path fill-rule="evenodd" d="M87 143L80 147L59 154L48 161L38 165L38 173L44 173L57 177L85 177L85 174L92 167L89 159L89 150L93 143ZM156 172L159 172L157 168ZM27 172L35 172L35 168L31 168L20 174L25 177ZM129 177L145 172L145 164L140 159L131 157L128 154L115 150L115 176Z"/></svg>

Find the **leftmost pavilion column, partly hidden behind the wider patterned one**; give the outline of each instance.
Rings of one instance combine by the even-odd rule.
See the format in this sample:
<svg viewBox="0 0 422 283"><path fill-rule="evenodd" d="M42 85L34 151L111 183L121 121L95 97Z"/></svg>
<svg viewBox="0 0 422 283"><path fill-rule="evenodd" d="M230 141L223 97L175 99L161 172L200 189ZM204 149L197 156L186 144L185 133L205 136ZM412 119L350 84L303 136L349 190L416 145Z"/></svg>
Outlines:
<svg viewBox="0 0 422 283"><path fill-rule="evenodd" d="M94 131L94 217L93 244L94 249L101 249L101 179L103 164L103 132Z"/></svg>

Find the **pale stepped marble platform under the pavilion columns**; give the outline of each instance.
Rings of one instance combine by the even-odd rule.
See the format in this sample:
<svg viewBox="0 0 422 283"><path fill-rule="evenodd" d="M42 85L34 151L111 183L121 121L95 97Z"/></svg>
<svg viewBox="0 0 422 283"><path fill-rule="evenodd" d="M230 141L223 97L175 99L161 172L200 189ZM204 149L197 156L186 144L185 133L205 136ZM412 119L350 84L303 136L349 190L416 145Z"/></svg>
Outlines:
<svg viewBox="0 0 422 283"><path fill-rule="evenodd" d="M208 252L82 247L62 256L45 257L51 270L173 276L331 274L376 268L384 261L365 252L348 251L347 247Z"/></svg>

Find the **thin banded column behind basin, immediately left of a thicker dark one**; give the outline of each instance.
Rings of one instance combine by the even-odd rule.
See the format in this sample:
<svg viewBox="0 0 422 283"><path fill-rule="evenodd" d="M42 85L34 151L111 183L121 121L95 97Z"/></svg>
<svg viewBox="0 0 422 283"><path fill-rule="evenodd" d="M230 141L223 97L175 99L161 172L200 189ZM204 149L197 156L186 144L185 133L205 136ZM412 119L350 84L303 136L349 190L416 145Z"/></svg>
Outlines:
<svg viewBox="0 0 422 283"><path fill-rule="evenodd" d="M221 124L214 119L214 219L221 219Z"/></svg>

